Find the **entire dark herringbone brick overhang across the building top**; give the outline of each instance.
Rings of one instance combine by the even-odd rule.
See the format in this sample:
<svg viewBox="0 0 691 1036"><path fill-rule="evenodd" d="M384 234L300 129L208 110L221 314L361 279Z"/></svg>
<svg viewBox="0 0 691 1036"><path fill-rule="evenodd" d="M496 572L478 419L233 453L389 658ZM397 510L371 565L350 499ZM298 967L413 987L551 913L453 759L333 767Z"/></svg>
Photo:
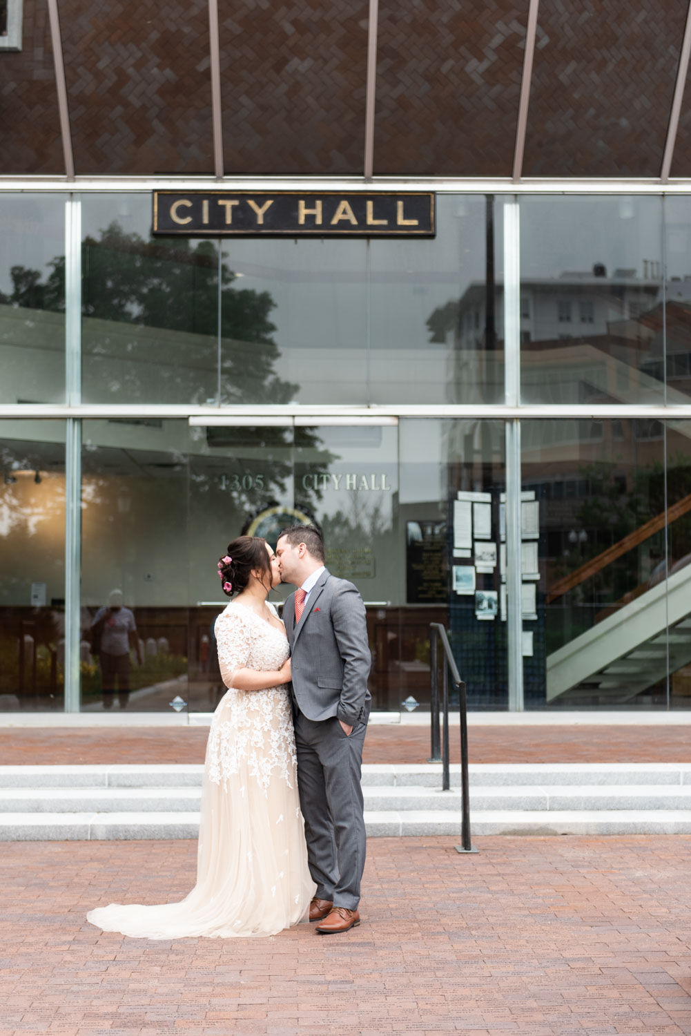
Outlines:
<svg viewBox="0 0 691 1036"><path fill-rule="evenodd" d="M207 0L58 4L78 174L211 173ZM511 174L527 7L381 0L375 174ZM524 175L659 174L686 10L541 0ZM226 172L363 172L368 0L220 0L220 34ZM47 0L0 53L0 174L64 173Z"/></svg>

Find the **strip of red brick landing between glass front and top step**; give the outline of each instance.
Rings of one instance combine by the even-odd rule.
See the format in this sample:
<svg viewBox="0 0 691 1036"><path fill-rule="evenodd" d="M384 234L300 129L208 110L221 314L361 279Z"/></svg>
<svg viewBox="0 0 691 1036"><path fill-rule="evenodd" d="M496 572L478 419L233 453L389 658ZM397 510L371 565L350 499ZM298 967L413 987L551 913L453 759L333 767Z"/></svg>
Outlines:
<svg viewBox="0 0 691 1036"><path fill-rule="evenodd" d="M0 765L202 762L208 727L16 727L0 729ZM471 726L471 762L686 762L691 725ZM371 726L366 762L425 762L429 727ZM451 730L459 761L458 727Z"/></svg>

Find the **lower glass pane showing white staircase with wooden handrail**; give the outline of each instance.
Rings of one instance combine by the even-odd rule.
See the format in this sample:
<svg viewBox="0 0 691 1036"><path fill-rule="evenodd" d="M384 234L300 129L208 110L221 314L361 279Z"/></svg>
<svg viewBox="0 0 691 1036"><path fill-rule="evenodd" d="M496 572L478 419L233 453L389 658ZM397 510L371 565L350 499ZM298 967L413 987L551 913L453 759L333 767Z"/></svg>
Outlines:
<svg viewBox="0 0 691 1036"><path fill-rule="evenodd" d="M527 421L521 432L526 707L666 706L661 422Z"/></svg>

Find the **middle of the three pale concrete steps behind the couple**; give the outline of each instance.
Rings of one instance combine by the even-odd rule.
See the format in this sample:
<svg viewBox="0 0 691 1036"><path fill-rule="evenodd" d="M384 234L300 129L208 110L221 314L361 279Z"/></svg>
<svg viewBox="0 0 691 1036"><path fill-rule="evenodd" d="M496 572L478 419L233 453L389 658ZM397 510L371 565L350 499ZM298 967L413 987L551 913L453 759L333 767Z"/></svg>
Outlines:
<svg viewBox="0 0 691 1036"><path fill-rule="evenodd" d="M461 809L460 788L414 785L365 785L365 808L373 812L443 813ZM518 785L470 787L476 811L528 810L691 810L691 784L611 786ZM4 788L0 792L0 823L8 813L189 813L199 810L201 789L168 788Z"/></svg>

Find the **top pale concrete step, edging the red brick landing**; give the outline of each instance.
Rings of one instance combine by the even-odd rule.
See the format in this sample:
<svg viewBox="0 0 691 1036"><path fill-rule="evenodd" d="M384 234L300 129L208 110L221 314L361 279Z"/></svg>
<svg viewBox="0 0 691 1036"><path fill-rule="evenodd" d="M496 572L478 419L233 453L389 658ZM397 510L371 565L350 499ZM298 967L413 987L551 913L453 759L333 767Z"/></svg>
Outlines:
<svg viewBox="0 0 691 1036"><path fill-rule="evenodd" d="M451 766L452 786L460 786L460 766ZM203 766L120 764L104 766L0 766L0 788L193 788ZM557 787L560 785L691 785L691 762L471 764L471 787ZM369 764L363 786L439 787L440 764Z"/></svg>

